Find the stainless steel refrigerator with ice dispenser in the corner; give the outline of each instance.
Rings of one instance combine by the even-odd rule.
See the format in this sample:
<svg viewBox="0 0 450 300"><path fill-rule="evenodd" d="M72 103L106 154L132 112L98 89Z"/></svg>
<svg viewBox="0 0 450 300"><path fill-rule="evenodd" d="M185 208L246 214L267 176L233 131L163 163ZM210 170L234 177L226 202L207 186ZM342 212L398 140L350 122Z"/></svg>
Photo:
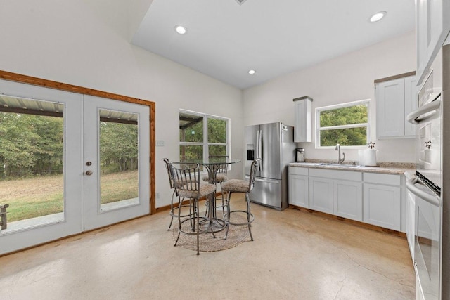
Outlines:
<svg viewBox="0 0 450 300"><path fill-rule="evenodd" d="M245 177L261 158L250 201L274 209L288 207L288 164L295 161L294 128L281 122L245 127Z"/></svg>

